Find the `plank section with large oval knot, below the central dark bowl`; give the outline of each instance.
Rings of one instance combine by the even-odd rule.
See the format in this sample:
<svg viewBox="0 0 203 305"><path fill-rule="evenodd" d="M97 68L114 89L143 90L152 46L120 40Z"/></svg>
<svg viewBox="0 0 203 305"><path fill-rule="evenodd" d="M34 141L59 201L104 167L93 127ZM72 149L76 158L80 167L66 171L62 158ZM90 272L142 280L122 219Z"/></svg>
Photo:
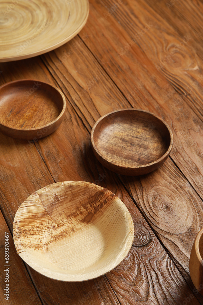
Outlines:
<svg viewBox="0 0 203 305"><path fill-rule="evenodd" d="M197 193L170 159L148 175L121 180L164 246L189 274L192 245L203 226Z"/></svg>

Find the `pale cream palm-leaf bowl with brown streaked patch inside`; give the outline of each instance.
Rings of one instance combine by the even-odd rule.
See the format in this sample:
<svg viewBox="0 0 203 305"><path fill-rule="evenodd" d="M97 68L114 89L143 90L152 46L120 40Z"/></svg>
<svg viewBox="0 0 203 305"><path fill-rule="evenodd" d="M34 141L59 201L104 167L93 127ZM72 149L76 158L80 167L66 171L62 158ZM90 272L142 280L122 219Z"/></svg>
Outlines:
<svg viewBox="0 0 203 305"><path fill-rule="evenodd" d="M62 281L85 281L128 254L134 225L124 203L106 188L65 181L41 188L16 212L17 253L33 269Z"/></svg>

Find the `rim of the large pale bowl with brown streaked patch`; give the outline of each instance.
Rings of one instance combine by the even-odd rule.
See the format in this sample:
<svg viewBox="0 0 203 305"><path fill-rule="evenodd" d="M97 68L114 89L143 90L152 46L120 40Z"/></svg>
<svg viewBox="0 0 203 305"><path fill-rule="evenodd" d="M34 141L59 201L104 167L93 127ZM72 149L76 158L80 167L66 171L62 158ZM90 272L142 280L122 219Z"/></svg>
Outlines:
<svg viewBox="0 0 203 305"><path fill-rule="evenodd" d="M104 190L106 190L107 192L110 192L110 193L114 194L114 193L111 192L109 189L103 188L102 186L96 185L96 184L94 184L94 183L92 183L92 182L87 182L87 181L59 181L59 182L56 182L56 183L52 183L52 184L50 184L50 185L47 185L47 186L45 186L45 187L43 187L43 188L40 188L39 190L33 192L30 196L32 196L32 195L35 194L36 192L43 192L45 189L47 189L47 188L48 188L49 186L51 186L51 185L60 185L61 183L64 183L64 186L66 186L66 185L68 185L68 183L70 183L70 182L82 183L82 184L85 184L86 186L92 185L94 188L96 187L96 188L98 189L98 191L104 189ZM114 195L115 195L115 194L114 194ZM28 196L28 197L23 201L23 203L24 203L30 196ZM124 204L124 202L123 202L117 195L115 195L115 196L116 196L117 199L119 199L119 200L116 200L116 204L121 208L121 212L122 212L121 214L123 215L124 219L126 220L125 227L126 227L126 229L128 228L128 230L127 230L127 233L128 233L128 234L125 236L124 244L123 244L122 249L120 249L120 251L117 253L117 256L116 256L116 257L114 258L114 260L111 262L110 266L107 265L108 267L106 267L106 269L103 268L102 271L95 271L95 272L94 272L94 271L89 271L89 272L87 272L87 273L81 273L79 276L78 276L77 274L72 274L72 275L71 275L71 274L67 274L68 276L67 276L66 279L61 279L61 278L56 278L56 276L57 276L57 274L58 274L57 271L53 271L53 274L55 275L55 277L54 277L53 274L52 274L53 276L50 276L50 274L47 275L46 272L45 272L45 273L40 272L40 271L37 269L37 267L41 267L41 265L37 265L37 267L36 267L36 266L33 267L33 262L34 262L34 261L33 261L32 259L29 260L29 257L28 257L28 260L25 260L25 262L26 262L29 266L31 266L35 271L39 272L40 274L43 274L44 276L46 276L46 277L48 277L48 278L52 278L52 279L55 279L55 280L60 280L60 281L63 281L63 282L82 282L82 281L88 281L88 280L91 280L91 279L93 279L93 278L100 277L100 276L106 274L107 272L110 272L111 270L113 270L113 269L114 269L115 267L117 267L117 266L124 260L124 258L128 255L128 253L129 253L129 251L130 251L130 249L131 249L131 246L132 246L132 244L133 244L134 234L135 234L133 219L132 219L132 217L131 217L131 214L130 214L130 212L129 212L127 206ZM114 198L115 198L115 197L114 197ZM22 203L22 204L23 204L23 203ZM22 205L22 204L21 204L21 205ZM20 206L21 206L21 205L20 205ZM19 208L20 208L20 206L19 206ZM19 208L18 208L18 210L16 211L16 214L17 214L17 212L19 211ZM16 214L15 214L15 217L14 217L14 220L13 220L12 232L13 232L13 230L15 230L15 224L14 224L14 223L15 223ZM16 233L13 232L13 238L15 238L15 235L16 235ZM14 241L14 245L15 245L15 247L16 247L16 241ZM22 252L18 253L20 257L21 257L21 253L24 254L24 253L26 253L26 251L22 251ZM21 257L21 258L24 260L23 257ZM31 264L30 264L30 263L31 263ZM46 268L46 267L45 267L45 268ZM48 270L48 269L46 269L46 270ZM64 270L64 269L61 269L61 270ZM100 270L100 269L99 269L99 270Z"/></svg>

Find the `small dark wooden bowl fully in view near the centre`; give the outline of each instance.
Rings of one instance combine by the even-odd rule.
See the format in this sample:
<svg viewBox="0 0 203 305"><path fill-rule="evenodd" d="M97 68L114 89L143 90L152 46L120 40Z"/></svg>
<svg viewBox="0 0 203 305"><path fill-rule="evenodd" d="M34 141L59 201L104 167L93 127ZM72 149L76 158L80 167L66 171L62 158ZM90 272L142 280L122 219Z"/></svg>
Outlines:
<svg viewBox="0 0 203 305"><path fill-rule="evenodd" d="M123 175L143 175L169 156L173 134L168 124L148 111L121 109L94 124L91 143L96 158Z"/></svg>

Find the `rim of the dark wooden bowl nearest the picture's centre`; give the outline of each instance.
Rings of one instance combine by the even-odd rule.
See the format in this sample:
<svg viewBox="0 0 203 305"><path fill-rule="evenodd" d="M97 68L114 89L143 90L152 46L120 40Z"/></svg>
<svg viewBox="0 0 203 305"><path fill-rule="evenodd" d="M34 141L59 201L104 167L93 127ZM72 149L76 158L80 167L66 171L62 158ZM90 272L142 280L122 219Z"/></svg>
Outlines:
<svg viewBox="0 0 203 305"><path fill-rule="evenodd" d="M116 112L121 112L121 111L140 111L140 112L145 112L145 113L148 113L154 117L156 117L158 120L160 120L167 128L167 130L169 131L169 134L170 134L170 145L167 149L167 151L163 154L163 156L161 156L159 159L153 161L153 162L150 162L150 163L147 163L147 164L143 164L143 165L138 165L138 166L121 166L121 165L117 165L115 164L114 162L110 162L108 161L106 158L104 158L104 156L102 154L100 154L100 151L96 148L96 145L94 143L94 131L97 127L97 124L103 120L105 117L109 116L110 114L112 113L116 113ZM152 112L149 112L149 111L146 111L146 110L142 110L142 109L137 109L137 108L124 108L124 109L117 109L117 110L114 110L114 111L111 111L109 113L106 113L104 114L102 117L100 117L96 122L95 124L93 125L93 128L92 128L92 131L91 131L91 144L92 144L92 147L93 147L93 150L96 152L96 154L102 159L102 160L105 160L105 162L107 162L109 165L114 165L116 166L118 169L138 169L138 168L145 168L145 167L150 167L156 163L159 163L160 161L164 160L171 152L171 149L173 147L173 133L169 127L169 125L160 117L158 117L156 114L152 113Z"/></svg>

